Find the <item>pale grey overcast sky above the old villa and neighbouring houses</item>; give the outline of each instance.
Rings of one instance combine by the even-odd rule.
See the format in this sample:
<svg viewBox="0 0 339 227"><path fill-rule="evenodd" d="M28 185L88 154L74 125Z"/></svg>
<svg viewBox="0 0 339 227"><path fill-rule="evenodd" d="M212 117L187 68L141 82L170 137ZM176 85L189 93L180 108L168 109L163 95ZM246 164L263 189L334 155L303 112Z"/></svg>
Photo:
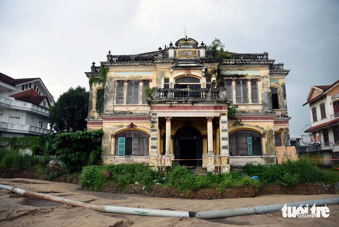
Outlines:
<svg viewBox="0 0 339 227"><path fill-rule="evenodd" d="M158 50L184 36L220 38L236 53L268 52L286 76L291 137L311 124L313 85L339 78L339 1L0 0L0 72L40 77L55 100L88 86L84 72L112 54ZM308 128L307 126L306 128ZM304 130L302 130L304 128Z"/></svg>

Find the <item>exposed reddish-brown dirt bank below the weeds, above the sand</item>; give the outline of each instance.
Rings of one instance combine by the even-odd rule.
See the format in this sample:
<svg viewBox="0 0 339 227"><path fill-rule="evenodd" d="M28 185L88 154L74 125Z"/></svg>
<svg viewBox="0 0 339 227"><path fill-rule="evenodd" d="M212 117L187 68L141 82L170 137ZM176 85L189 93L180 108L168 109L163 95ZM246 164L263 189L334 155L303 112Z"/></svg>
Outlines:
<svg viewBox="0 0 339 227"><path fill-rule="evenodd" d="M1 178L27 178L42 180L48 176L49 173L57 172L58 176L54 179L49 179L55 182L67 182L79 184L79 178L71 174L65 174L58 169L49 169L47 173L37 176L36 169L18 170L7 169L0 170ZM140 194L152 197L164 198L182 198L182 199L224 199L224 198L246 198L256 197L259 195L271 194L286 194L286 195L317 195L317 194L339 194L339 183L332 185L327 183L310 183L298 184L292 188L284 186L266 185L263 188L255 190L253 187L241 188L227 188L224 191L213 189L199 189L198 191L188 190L186 192L179 192L176 188L166 188L161 185L153 185L150 190L147 190L140 184L128 185L123 190L119 190L114 185L108 185L102 190L108 193L128 193Z"/></svg>

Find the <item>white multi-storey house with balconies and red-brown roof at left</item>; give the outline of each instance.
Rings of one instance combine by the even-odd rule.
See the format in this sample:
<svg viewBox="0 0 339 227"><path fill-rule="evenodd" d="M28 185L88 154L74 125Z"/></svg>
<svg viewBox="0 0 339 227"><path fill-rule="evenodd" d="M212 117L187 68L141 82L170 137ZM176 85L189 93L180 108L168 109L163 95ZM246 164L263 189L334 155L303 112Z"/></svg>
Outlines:
<svg viewBox="0 0 339 227"><path fill-rule="evenodd" d="M0 137L47 134L54 99L40 78L14 79L0 73Z"/></svg>

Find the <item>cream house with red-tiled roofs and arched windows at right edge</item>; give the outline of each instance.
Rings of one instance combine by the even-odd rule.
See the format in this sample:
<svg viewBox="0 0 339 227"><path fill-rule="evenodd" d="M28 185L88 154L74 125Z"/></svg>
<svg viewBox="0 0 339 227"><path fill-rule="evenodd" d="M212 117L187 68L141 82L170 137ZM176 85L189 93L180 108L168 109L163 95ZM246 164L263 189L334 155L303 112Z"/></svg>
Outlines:
<svg viewBox="0 0 339 227"><path fill-rule="evenodd" d="M339 80L331 85L312 86L307 96L310 105L312 127L305 133L312 133L317 141L319 133L321 148L339 152ZM333 149L332 149L333 146Z"/></svg>

